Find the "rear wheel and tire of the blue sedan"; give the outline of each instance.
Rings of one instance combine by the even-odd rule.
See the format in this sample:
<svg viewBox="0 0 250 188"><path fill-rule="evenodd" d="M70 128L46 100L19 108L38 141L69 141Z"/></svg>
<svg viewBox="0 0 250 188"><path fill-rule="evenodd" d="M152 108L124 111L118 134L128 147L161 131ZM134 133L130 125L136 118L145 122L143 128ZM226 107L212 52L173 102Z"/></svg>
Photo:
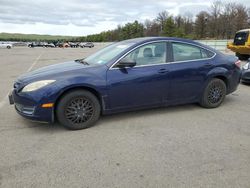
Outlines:
<svg viewBox="0 0 250 188"><path fill-rule="evenodd" d="M216 108L224 101L227 92L223 80L214 78L205 87L200 105L205 108Z"/></svg>

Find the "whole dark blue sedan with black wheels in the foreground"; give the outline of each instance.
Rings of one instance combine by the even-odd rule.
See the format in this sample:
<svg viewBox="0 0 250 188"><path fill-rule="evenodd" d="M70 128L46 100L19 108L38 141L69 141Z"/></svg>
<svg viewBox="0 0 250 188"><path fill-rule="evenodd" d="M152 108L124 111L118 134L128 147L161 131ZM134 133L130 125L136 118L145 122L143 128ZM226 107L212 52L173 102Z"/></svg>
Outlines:
<svg viewBox="0 0 250 188"><path fill-rule="evenodd" d="M203 44L136 38L26 73L9 100L28 119L83 129L102 114L186 103L218 107L237 89L240 76L237 57Z"/></svg>

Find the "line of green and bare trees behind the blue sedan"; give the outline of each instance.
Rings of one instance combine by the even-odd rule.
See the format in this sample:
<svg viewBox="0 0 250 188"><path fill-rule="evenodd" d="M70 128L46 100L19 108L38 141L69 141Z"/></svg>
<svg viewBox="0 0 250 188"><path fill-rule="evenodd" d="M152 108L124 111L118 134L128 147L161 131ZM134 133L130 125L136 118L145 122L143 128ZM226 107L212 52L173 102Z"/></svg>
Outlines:
<svg viewBox="0 0 250 188"><path fill-rule="evenodd" d="M114 30L79 37L79 41L110 42L135 37L168 36L190 39L232 39L235 32L250 27L250 9L240 3L215 1L208 11L173 16L158 13L144 23L134 21Z"/></svg>

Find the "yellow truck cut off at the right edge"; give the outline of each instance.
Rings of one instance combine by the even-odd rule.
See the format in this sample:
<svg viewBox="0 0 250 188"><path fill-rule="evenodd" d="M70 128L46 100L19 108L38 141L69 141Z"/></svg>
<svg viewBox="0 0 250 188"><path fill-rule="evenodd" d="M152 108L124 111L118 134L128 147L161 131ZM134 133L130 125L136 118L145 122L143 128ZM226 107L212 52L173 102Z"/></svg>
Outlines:
<svg viewBox="0 0 250 188"><path fill-rule="evenodd" d="M227 44L227 48L235 52L240 60L250 58L250 29L243 29L236 32L234 41Z"/></svg>

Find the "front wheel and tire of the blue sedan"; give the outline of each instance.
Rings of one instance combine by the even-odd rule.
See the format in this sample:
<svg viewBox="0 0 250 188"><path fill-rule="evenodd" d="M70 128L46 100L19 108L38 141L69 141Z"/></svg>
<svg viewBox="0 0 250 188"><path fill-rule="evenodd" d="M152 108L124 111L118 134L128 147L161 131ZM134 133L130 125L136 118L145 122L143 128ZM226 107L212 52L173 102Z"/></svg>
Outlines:
<svg viewBox="0 0 250 188"><path fill-rule="evenodd" d="M86 129L99 119L101 106L91 92L75 90L64 95L56 108L58 121L71 130Z"/></svg>

